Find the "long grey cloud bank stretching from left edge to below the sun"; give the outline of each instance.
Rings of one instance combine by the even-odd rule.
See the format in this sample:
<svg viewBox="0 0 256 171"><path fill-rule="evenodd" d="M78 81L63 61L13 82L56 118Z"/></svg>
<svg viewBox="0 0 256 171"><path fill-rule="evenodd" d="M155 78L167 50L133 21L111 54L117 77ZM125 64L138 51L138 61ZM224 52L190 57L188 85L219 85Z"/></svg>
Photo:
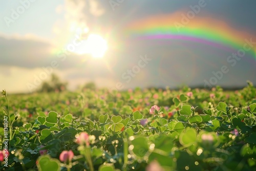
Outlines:
<svg viewBox="0 0 256 171"><path fill-rule="evenodd" d="M89 55L76 55L65 46L56 47L49 40L31 35L0 35L0 50L1 66L16 66L30 69L51 66L53 61L57 62L57 68L60 70L73 67L79 68L77 63L82 65L89 59Z"/></svg>

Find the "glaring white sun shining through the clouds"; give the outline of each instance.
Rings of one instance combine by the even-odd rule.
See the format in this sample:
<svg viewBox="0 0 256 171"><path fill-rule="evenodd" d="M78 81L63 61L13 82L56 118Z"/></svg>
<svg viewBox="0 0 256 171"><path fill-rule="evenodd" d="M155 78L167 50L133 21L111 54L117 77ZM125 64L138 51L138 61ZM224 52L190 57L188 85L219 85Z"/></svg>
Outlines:
<svg viewBox="0 0 256 171"><path fill-rule="evenodd" d="M74 52L80 55L90 54L94 58L101 58L107 49L108 44L104 38L98 34L90 34Z"/></svg>

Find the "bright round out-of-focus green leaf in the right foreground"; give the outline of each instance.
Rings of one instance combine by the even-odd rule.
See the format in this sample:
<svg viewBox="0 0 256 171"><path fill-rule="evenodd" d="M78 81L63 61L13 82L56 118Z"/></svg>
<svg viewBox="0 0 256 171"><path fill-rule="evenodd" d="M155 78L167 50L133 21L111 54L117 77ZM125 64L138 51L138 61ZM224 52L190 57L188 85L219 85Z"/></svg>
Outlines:
<svg viewBox="0 0 256 171"><path fill-rule="evenodd" d="M181 134L180 134L180 143L188 147L193 145L197 141L197 131L194 128L187 127Z"/></svg>

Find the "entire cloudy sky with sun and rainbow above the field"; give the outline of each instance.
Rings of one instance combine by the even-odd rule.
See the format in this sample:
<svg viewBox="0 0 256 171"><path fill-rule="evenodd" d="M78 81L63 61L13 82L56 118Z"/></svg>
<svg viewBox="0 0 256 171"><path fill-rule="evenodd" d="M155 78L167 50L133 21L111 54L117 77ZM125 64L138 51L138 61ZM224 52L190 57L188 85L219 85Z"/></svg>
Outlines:
<svg viewBox="0 0 256 171"><path fill-rule="evenodd" d="M256 84L256 2L0 2L0 89L33 92L56 73L68 88Z"/></svg>

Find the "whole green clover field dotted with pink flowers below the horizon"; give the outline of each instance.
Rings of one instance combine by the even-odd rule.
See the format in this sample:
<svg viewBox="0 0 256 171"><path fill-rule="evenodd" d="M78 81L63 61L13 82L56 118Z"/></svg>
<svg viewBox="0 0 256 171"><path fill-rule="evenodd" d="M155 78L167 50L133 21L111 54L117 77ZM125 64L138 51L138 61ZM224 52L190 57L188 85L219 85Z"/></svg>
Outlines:
<svg viewBox="0 0 256 171"><path fill-rule="evenodd" d="M0 169L256 170L256 88L250 82L239 91L86 88L3 91Z"/></svg>

